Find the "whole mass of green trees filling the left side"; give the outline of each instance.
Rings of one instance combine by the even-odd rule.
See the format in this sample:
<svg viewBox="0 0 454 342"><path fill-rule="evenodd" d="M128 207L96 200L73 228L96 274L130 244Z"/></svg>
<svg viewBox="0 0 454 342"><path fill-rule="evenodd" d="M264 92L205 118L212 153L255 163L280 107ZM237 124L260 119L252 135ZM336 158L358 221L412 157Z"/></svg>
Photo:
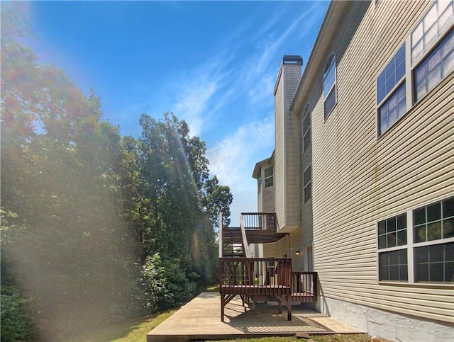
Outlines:
<svg viewBox="0 0 454 342"><path fill-rule="evenodd" d="M1 4L1 287L16 289L2 341L4 323L30 331L28 303L55 339L190 299L216 281L213 226L232 200L186 122L144 114L141 137L121 137L93 92L39 64L18 43L26 6Z"/></svg>

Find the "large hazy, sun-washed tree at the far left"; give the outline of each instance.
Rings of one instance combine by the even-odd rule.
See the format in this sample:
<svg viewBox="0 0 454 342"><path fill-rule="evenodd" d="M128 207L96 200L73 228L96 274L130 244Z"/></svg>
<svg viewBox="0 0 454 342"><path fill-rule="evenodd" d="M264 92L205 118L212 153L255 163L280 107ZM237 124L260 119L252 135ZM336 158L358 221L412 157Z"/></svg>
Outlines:
<svg viewBox="0 0 454 342"><path fill-rule="evenodd" d="M122 215L118 127L101 121L94 93L16 42L26 30L11 24L14 6L1 12L1 205L13 213L1 227L2 273L33 298L52 338L133 314L139 265Z"/></svg>

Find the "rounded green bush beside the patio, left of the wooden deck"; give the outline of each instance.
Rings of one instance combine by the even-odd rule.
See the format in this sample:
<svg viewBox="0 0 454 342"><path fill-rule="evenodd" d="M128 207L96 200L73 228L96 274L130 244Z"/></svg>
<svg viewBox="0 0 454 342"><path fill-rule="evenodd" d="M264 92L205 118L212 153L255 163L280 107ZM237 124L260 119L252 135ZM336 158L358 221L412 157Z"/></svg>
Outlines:
<svg viewBox="0 0 454 342"><path fill-rule="evenodd" d="M148 256L142 270L147 312L177 307L196 295L195 273L187 274L178 258L162 260L159 253Z"/></svg>

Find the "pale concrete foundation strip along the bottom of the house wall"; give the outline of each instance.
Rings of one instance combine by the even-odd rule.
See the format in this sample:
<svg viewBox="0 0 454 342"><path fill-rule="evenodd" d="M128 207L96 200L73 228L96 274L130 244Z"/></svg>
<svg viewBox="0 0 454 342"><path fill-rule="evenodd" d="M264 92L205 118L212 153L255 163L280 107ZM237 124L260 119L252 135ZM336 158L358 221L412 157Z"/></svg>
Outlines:
<svg viewBox="0 0 454 342"><path fill-rule="evenodd" d="M409 317L321 296L316 310L347 324L397 342L454 341L453 324Z"/></svg>

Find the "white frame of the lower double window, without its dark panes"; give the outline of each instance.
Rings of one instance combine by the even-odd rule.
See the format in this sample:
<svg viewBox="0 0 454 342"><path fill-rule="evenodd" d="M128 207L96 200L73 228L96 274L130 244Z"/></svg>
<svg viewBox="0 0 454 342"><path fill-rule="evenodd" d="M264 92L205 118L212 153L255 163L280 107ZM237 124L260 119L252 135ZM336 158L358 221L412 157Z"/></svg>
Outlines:
<svg viewBox="0 0 454 342"><path fill-rule="evenodd" d="M413 214L414 210L419 210L423 207L428 207L430 205L442 202L444 200L449 200L450 198L454 198L454 193L451 193L448 196L445 196L443 198L439 198L438 200L431 200L430 202L422 203L421 205L416 205L414 207L409 208L406 211L403 212L396 212L394 215L383 217L380 220L377 220L375 222L375 236L376 236L376 251L377 251L377 283L379 284L414 284L414 285L441 285L441 286L452 286L452 282L432 282L432 281L420 281L416 282L416 275L415 275L415 259L416 259L416 251L415 249L418 247L423 247L423 246L433 246L433 245L443 245L443 244L448 244L451 242L454 242L454 237L450 238L442 238L442 239L436 239L436 240L431 240L431 241L422 241L422 242L414 242L414 224L413 224ZM378 223L387 220L392 217L397 217L399 215L406 214L406 244L402 246L394 246L391 248L386 248L386 249L379 249L378 245ZM406 254L407 254L407 267L408 267L408 280L380 280L380 253L384 253L387 251L397 251L397 250L402 250L406 249Z"/></svg>

